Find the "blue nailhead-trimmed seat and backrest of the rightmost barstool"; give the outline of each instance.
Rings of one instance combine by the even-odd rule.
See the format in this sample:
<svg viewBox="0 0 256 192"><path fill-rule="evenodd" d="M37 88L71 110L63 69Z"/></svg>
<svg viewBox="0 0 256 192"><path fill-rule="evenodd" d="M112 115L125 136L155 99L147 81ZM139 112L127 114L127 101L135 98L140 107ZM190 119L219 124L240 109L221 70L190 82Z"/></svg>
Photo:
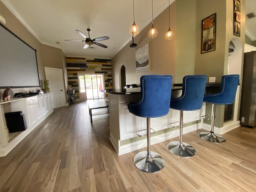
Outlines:
<svg viewBox="0 0 256 192"><path fill-rule="evenodd" d="M238 74L222 76L220 92L204 95L204 102L222 105L234 103L238 83Z"/></svg>

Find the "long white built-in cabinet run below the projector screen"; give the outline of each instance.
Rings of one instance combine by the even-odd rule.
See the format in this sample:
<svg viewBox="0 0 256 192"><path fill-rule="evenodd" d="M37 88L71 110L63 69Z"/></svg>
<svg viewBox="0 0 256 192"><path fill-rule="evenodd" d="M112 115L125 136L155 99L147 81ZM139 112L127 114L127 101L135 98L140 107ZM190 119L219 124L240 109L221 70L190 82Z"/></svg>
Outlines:
<svg viewBox="0 0 256 192"><path fill-rule="evenodd" d="M5 131L4 107L9 105L11 112L22 111L25 114L28 128L11 142L8 142ZM54 93L46 93L28 98L13 99L0 102L0 157L10 152L23 138L25 138L38 124L53 112Z"/></svg>

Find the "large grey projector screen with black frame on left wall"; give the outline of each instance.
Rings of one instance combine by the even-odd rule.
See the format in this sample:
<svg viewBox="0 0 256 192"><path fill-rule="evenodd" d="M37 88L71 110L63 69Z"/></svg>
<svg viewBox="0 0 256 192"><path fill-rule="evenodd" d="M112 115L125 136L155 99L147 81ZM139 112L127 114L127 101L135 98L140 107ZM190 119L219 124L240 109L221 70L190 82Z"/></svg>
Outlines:
<svg viewBox="0 0 256 192"><path fill-rule="evenodd" d="M0 88L39 87L36 50L0 25Z"/></svg>

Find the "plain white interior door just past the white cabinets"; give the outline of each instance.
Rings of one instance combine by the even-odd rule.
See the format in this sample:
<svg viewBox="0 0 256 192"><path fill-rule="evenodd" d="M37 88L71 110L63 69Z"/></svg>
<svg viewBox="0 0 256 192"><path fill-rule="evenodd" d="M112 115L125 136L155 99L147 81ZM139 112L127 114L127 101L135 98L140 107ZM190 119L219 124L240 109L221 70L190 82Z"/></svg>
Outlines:
<svg viewBox="0 0 256 192"><path fill-rule="evenodd" d="M44 67L46 80L50 81L50 92L54 92L55 108L66 103L62 69Z"/></svg>

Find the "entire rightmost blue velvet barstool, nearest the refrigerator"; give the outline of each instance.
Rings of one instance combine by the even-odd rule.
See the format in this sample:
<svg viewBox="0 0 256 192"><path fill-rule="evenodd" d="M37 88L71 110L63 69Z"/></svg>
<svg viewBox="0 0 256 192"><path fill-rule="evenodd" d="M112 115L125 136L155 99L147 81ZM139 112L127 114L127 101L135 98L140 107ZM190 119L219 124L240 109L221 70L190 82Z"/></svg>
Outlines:
<svg viewBox="0 0 256 192"><path fill-rule="evenodd" d="M236 90L239 83L239 75L224 75L221 78L221 89L220 92L214 94L205 94L204 102L212 103L212 114L203 116L210 116L211 119L211 130L210 132L200 132L198 135L212 143L223 143L226 139L218 134L214 134L214 120L215 120L215 109L216 105L227 105L234 103L236 97Z"/></svg>

